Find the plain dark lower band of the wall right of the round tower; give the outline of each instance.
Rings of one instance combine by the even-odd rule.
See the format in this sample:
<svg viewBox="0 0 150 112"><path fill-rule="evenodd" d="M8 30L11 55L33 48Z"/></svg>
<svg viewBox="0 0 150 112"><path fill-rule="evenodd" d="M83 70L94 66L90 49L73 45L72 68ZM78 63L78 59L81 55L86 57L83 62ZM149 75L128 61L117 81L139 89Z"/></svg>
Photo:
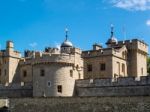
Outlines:
<svg viewBox="0 0 150 112"><path fill-rule="evenodd" d="M150 86L78 87L77 96L150 96Z"/></svg>

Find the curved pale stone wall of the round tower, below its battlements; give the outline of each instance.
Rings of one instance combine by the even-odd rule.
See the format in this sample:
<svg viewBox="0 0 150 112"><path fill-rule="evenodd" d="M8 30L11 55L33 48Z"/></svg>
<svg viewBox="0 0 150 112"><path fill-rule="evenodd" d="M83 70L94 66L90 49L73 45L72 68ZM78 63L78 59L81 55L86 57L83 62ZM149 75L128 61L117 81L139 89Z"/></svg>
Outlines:
<svg viewBox="0 0 150 112"><path fill-rule="evenodd" d="M44 68L45 76L40 76L40 68ZM74 93L75 74L70 76L72 66L64 65L36 65L33 70L33 96L72 96ZM48 82L51 85L48 86ZM57 86L62 86L62 93L58 92Z"/></svg>

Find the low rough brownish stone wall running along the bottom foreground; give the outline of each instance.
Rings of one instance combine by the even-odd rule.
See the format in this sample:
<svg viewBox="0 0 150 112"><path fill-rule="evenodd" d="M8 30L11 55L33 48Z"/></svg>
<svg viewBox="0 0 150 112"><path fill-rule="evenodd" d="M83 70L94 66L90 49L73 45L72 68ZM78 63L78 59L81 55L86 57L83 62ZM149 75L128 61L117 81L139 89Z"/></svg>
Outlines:
<svg viewBox="0 0 150 112"><path fill-rule="evenodd" d="M150 97L11 98L11 112L150 112Z"/></svg>

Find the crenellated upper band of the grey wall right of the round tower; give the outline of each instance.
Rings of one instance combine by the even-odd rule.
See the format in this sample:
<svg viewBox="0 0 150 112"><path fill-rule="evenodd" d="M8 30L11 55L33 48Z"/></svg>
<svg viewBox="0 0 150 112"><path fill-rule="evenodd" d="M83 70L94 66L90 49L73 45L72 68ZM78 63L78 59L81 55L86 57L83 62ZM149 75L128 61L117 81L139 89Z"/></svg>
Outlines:
<svg viewBox="0 0 150 112"><path fill-rule="evenodd" d="M150 76L142 76L140 80L135 77L120 77L116 80L108 79L85 79L77 80L77 87L120 87L150 85Z"/></svg>

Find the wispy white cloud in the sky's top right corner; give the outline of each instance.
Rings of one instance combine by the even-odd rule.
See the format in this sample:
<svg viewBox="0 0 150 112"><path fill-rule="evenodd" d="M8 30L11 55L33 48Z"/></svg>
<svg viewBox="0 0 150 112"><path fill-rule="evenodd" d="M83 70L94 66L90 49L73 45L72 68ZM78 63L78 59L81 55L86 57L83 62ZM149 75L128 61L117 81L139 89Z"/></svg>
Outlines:
<svg viewBox="0 0 150 112"><path fill-rule="evenodd" d="M150 0L111 0L114 7L130 11L150 10Z"/></svg>

